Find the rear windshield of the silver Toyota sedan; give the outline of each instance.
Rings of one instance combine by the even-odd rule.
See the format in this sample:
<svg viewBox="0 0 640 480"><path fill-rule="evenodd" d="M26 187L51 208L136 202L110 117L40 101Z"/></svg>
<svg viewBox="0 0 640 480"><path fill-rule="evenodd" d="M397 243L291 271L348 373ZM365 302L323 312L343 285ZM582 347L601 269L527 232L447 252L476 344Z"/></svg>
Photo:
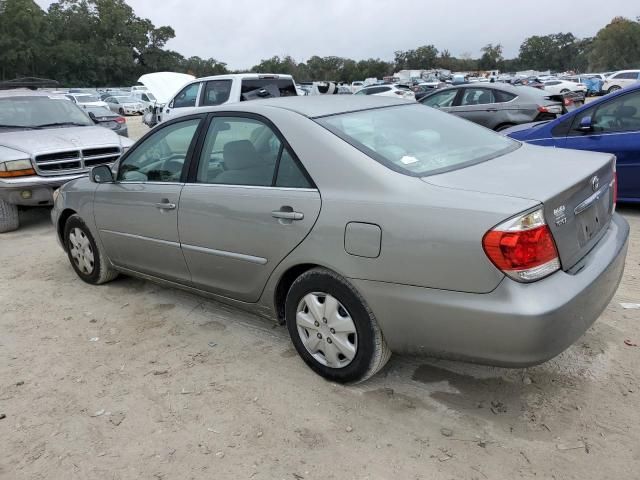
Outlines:
<svg viewBox="0 0 640 480"><path fill-rule="evenodd" d="M316 119L383 165L416 177L504 155L519 143L424 105L401 105Z"/></svg>

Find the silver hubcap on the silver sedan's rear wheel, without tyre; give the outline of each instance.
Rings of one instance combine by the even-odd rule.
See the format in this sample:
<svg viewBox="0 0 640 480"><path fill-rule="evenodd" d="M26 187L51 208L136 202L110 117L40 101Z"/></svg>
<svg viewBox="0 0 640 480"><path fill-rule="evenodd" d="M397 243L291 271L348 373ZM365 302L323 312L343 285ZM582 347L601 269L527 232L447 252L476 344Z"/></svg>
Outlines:
<svg viewBox="0 0 640 480"><path fill-rule="evenodd" d="M296 325L303 345L322 365L343 368L356 356L356 326L335 297L322 292L305 295L298 304Z"/></svg>

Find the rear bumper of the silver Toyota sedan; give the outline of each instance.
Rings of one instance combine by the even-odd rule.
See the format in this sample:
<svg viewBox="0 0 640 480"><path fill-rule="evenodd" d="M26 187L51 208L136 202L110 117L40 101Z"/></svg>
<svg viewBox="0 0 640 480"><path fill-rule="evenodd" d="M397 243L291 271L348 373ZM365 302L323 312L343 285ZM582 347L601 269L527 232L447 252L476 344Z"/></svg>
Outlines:
<svg viewBox="0 0 640 480"><path fill-rule="evenodd" d="M392 351L524 367L564 351L600 316L622 278L628 237L616 214L575 275L531 284L505 278L488 294L352 281Z"/></svg>

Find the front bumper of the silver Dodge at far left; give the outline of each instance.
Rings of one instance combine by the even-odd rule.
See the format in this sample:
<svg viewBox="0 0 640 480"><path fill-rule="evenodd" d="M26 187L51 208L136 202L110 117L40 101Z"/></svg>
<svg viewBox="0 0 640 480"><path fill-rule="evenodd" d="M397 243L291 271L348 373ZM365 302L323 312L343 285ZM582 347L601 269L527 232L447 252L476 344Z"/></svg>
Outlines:
<svg viewBox="0 0 640 480"><path fill-rule="evenodd" d="M59 177L19 177L0 180L0 200L14 205L38 206L53 203L53 191L67 182L86 176L64 175ZM30 192L29 198L24 198L23 192Z"/></svg>

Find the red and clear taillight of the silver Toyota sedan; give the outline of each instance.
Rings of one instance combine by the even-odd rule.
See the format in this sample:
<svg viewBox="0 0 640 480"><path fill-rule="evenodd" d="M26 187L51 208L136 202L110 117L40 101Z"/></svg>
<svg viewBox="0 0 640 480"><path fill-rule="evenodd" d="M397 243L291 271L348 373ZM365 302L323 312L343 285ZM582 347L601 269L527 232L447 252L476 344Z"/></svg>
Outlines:
<svg viewBox="0 0 640 480"><path fill-rule="evenodd" d="M482 246L496 267L521 282L539 280L560 268L542 210L498 225L485 234Z"/></svg>

